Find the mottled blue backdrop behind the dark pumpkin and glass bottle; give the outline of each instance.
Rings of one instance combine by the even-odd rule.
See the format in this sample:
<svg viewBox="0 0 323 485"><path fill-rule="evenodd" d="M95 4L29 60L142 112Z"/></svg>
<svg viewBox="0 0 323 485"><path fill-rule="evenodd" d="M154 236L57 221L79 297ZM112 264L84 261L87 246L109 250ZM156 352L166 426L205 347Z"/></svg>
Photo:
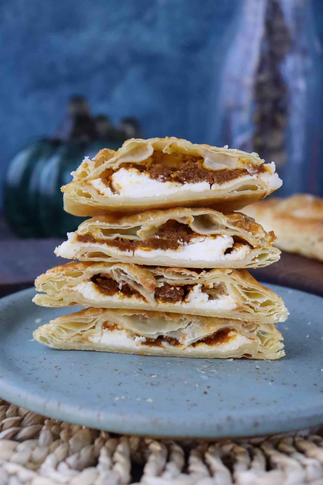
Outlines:
<svg viewBox="0 0 323 485"><path fill-rule="evenodd" d="M237 1L2 0L0 173L26 140L55 131L73 94L115 122L136 115L147 136L212 142L212 63ZM315 8L322 39L323 1Z"/></svg>

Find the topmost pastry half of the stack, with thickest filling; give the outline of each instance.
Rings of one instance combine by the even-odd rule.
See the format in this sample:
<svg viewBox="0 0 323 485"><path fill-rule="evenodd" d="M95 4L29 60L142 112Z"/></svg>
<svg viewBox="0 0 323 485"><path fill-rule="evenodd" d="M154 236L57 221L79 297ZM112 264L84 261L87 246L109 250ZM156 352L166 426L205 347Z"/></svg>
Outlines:
<svg viewBox="0 0 323 485"><path fill-rule="evenodd" d="M62 187L74 215L138 212L179 206L242 209L278 189L275 163L256 153L194 145L175 137L124 142L85 158Z"/></svg>

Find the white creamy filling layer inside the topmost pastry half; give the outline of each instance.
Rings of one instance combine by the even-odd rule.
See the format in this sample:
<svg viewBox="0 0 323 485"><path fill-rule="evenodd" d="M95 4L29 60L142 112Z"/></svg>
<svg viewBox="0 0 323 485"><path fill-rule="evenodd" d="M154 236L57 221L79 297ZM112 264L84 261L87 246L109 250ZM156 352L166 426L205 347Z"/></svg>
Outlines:
<svg viewBox="0 0 323 485"><path fill-rule="evenodd" d="M278 175L275 174L275 163L271 162L270 172L261 172L259 174L250 174L243 177L239 177L236 181L244 182L252 179L259 179L267 185L269 189L277 189L281 186L282 181ZM106 197L123 196L123 197L158 197L161 195L174 194L178 191L193 191L203 192L207 190L219 190L231 187L232 182L230 180L222 184L214 183L212 186L208 182L196 182L196 183L180 183L180 182L162 182L161 180L155 180L150 178L147 174L140 173L136 168L120 168L111 176L111 184L115 193L111 191L101 180L101 178L95 178L89 180L88 183L92 185L94 189L101 195Z"/></svg>

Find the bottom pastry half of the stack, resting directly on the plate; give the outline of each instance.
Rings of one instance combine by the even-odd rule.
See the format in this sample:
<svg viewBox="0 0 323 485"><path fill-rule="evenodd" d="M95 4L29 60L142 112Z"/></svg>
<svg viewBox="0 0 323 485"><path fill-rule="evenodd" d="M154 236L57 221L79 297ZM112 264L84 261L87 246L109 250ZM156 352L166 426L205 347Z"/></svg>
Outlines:
<svg viewBox="0 0 323 485"><path fill-rule="evenodd" d="M42 325L33 337L56 349L150 356L285 355L281 333L273 324L156 311L87 308Z"/></svg>

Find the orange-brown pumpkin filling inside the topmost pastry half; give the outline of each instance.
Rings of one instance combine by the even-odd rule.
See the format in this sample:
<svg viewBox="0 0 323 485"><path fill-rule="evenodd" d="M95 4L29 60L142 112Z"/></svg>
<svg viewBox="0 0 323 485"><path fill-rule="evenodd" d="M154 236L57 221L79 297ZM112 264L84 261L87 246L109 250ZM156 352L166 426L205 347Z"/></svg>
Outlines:
<svg viewBox="0 0 323 485"><path fill-rule="evenodd" d="M206 168L203 162L202 157L154 151L151 157L143 160L140 164L122 163L118 168L136 169L159 182L179 182L182 184L208 182L211 185L214 183L221 185L244 175L258 174L267 170L263 164L252 167L252 173L245 168L212 170ZM111 176L111 169L109 169L107 173L102 175L102 181L113 190L109 183Z"/></svg>

